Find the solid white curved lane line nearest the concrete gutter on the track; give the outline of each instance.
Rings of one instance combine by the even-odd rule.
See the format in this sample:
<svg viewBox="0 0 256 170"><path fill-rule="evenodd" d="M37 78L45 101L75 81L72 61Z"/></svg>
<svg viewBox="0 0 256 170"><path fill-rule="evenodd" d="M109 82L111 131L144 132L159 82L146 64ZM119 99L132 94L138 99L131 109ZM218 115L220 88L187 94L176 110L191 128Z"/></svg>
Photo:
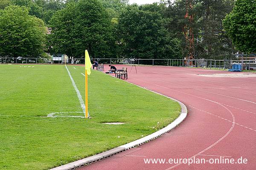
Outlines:
<svg viewBox="0 0 256 170"><path fill-rule="evenodd" d="M141 80L141 79L137 79L137 80L146 82L146 81ZM164 86L161 86L161 85L157 85L157 84L154 84L154 83L151 83L151 82L147 82L147 83L150 83L150 84L152 84L152 85L156 85L156 86L158 86L158 87L170 89L170 90L172 90L172 91L177 91L177 90L173 90L173 89L171 89L171 88L167 88L167 87L164 87ZM219 104L218 102L215 102L215 101L212 101L212 100L209 100L209 99L205 99L205 98L203 98L203 97L195 96L195 95L188 94L188 93L185 93L185 92L182 92L182 91L178 91L178 92L183 93L183 94L187 94L187 95L189 95L189 96L194 96L194 97L197 97L197 98L200 98L200 99L204 99L204 100L207 100L207 101L209 101L209 102L216 103L217 105L221 105L221 104ZM230 134L230 132L233 130L234 126L236 125L236 123L235 123L235 122L236 122L236 119L235 119L234 114L233 114L228 108L226 108L224 105L221 105L221 106L222 106L223 108L225 108L225 109L231 114L231 116L232 116L232 118L233 118L232 126L230 127L230 129L227 131L227 133L226 133L224 136L222 136L220 139L218 139L218 141L216 141L215 143L211 144L209 147L205 148L205 149L202 150L201 152L199 152L199 153L195 154L194 156L190 157L190 159L192 159L192 158L195 157L195 156L198 156L198 155L201 154L201 153L204 153L205 151L209 150L210 148L214 147L216 144L218 144L219 142L221 142L226 136L228 136L228 135ZM166 170L170 170L170 169L172 169L172 168L174 168L174 167L179 166L180 164L182 164L182 163L179 163L179 164L176 164L176 165L174 165L174 166L172 166L172 167L169 167L169 168L166 169Z"/></svg>

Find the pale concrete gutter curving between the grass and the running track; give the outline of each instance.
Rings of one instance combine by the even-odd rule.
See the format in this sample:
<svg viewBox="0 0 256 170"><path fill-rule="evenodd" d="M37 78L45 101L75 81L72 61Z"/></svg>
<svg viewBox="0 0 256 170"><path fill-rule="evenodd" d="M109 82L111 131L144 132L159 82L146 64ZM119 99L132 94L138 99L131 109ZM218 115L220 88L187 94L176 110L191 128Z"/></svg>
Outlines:
<svg viewBox="0 0 256 170"><path fill-rule="evenodd" d="M133 84L133 83L131 83L131 84ZM139 87L141 87L141 86L139 86ZM141 87L141 88L143 88L143 87ZM151 91L151 90L149 90L149 91ZM154 92L156 94L159 94L159 93L157 93L155 91L152 91L152 92ZM160 94L160 95L165 96L163 94ZM106 158L108 158L110 156L113 156L113 155L115 155L117 153L120 153L122 151L131 149L132 147L137 147L137 146L139 146L141 144L144 144L144 143L146 143L148 141L156 139L157 137L163 135L164 133L167 133L170 130L174 129L177 125L179 125L186 118L186 116L187 116L187 108L186 108L186 106L182 102L180 102L180 101L178 101L176 99L173 99L171 97L168 97L168 96L166 96L166 97L169 98L169 99L174 100L175 102L178 102L180 104L180 106L181 106L180 116L177 119L175 119L175 121L173 121L171 124L167 125L163 129L160 129L160 130L158 130L158 131L156 131L156 132L154 132L154 133L152 133L152 134L150 134L148 136L145 136L145 137L143 137L141 139L137 139L136 141L130 142L128 144L124 144L122 146L113 148L111 150L108 150L108 151L103 152L103 153L99 153L99 154L94 155L94 156L90 156L90 157L81 159L79 161L74 161L74 162L71 162L69 164L65 164L65 165L62 165L62 166L59 166L59 167L52 168L50 170L75 170L76 168L86 166L86 165L91 164L93 162L100 161L102 159L106 159Z"/></svg>

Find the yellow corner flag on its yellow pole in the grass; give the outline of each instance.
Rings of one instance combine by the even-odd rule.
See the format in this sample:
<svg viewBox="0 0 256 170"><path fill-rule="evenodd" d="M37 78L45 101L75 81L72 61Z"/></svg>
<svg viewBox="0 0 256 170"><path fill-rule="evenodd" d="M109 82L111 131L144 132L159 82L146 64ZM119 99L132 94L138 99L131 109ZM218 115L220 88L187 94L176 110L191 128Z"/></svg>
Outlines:
<svg viewBox="0 0 256 170"><path fill-rule="evenodd" d="M90 57L88 51L85 50L85 118L88 118L88 77L90 75L90 68L92 67L92 63L90 62Z"/></svg>

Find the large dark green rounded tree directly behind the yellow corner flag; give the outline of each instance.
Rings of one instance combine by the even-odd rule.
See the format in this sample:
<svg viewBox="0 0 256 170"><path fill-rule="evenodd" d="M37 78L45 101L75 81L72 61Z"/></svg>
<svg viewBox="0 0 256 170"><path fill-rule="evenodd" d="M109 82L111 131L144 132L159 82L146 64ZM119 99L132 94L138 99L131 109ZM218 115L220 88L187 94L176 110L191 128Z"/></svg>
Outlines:
<svg viewBox="0 0 256 170"><path fill-rule="evenodd" d="M87 49L91 57L115 55L113 27L106 10L98 0L69 1L50 20L52 52L70 57L83 57Z"/></svg>

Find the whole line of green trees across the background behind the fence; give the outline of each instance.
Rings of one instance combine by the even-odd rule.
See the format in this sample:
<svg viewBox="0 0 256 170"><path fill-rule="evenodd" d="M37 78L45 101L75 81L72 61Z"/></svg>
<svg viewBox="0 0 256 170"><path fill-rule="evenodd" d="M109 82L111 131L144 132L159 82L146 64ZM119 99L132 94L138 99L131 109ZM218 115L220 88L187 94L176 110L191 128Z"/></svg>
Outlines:
<svg viewBox="0 0 256 170"><path fill-rule="evenodd" d="M87 49L92 58L230 59L237 50L256 51L255 4L0 0L0 56L82 58Z"/></svg>

